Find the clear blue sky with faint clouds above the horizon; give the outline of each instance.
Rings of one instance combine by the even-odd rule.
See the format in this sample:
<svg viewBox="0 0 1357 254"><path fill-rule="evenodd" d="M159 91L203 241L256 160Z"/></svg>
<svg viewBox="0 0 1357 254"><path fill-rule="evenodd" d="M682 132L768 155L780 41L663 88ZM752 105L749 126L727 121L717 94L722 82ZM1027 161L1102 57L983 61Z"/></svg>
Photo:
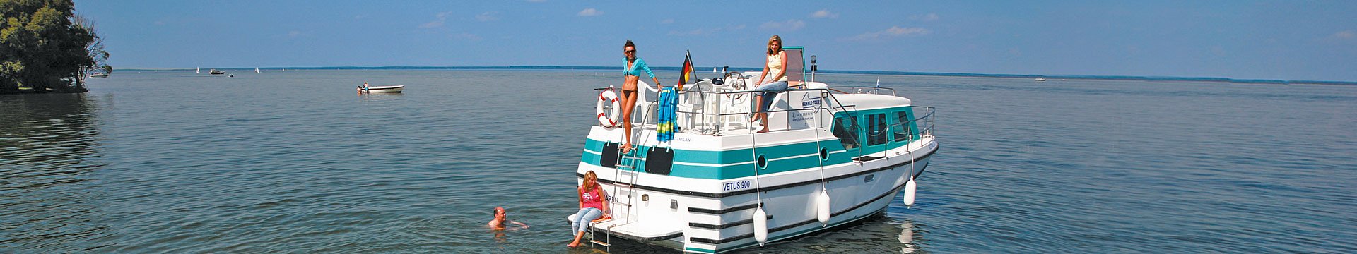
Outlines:
<svg viewBox="0 0 1357 254"><path fill-rule="evenodd" d="M92 1L115 68L761 66L1357 81L1357 1Z"/></svg>

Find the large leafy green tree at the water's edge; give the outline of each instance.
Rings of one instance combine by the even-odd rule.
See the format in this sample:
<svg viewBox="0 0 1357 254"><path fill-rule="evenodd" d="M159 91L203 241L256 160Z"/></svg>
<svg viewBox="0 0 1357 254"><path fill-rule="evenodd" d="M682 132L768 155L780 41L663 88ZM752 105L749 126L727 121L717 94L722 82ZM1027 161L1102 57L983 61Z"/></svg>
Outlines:
<svg viewBox="0 0 1357 254"><path fill-rule="evenodd" d="M80 20L72 0L0 0L0 93L84 92L84 73L109 54Z"/></svg>

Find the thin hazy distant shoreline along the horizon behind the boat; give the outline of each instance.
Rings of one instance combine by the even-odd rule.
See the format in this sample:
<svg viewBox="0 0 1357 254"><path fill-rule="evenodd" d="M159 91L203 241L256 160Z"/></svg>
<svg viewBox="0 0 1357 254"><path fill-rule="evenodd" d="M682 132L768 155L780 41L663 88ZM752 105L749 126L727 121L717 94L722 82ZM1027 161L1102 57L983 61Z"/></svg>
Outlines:
<svg viewBox="0 0 1357 254"><path fill-rule="evenodd" d="M706 68L693 68L704 73ZM254 70L255 68L214 68L217 70ZM554 66L554 65L514 65L514 66L324 66L324 68L261 68L266 70L293 69L293 70L622 70L620 66ZM651 66L654 70L678 72L678 68ZM187 72L194 69L115 69L117 72ZM733 72L759 72L756 68L730 68ZM1080 76L1080 74L985 74L985 73L930 73L930 72L894 72L894 70L820 70L826 74L890 74L890 76L942 76L942 77L1004 77L1004 78L1069 78L1069 80L1141 80L1141 81L1205 81L1205 82L1238 82L1238 84L1312 84L1312 85L1357 85L1357 81L1319 81L1319 80L1236 80L1224 77L1151 77L1151 76Z"/></svg>

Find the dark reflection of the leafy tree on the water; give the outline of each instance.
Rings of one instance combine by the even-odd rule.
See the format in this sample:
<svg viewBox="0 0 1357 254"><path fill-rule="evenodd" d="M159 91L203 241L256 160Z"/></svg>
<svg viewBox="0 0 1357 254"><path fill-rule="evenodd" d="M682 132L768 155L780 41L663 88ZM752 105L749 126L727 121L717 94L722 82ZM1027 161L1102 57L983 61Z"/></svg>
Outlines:
<svg viewBox="0 0 1357 254"><path fill-rule="evenodd" d="M0 251L110 234L91 176L103 166L95 103L81 93L5 95L0 108Z"/></svg>

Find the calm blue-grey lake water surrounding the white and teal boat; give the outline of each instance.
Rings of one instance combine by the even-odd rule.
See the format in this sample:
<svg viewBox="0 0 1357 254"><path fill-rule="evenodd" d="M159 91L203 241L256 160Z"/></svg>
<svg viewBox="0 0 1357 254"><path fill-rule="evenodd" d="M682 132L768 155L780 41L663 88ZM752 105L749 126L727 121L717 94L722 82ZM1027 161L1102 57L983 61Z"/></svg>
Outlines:
<svg viewBox="0 0 1357 254"><path fill-rule="evenodd" d="M938 107L915 207L748 253L1357 251L1357 86L879 78ZM603 251L567 249L562 218L589 88L620 80L118 72L0 95L0 253ZM487 230L495 205L531 228Z"/></svg>

